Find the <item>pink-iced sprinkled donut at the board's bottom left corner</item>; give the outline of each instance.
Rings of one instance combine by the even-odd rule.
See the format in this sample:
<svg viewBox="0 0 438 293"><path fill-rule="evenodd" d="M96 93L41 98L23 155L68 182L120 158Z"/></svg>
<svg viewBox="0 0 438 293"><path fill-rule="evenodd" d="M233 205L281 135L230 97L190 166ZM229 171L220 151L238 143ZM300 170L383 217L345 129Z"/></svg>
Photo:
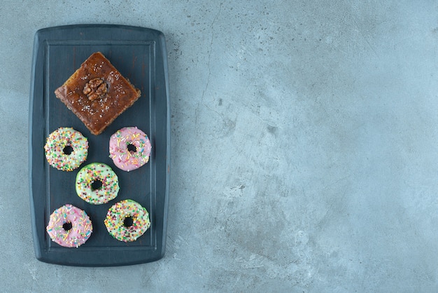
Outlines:
<svg viewBox="0 0 438 293"><path fill-rule="evenodd" d="M93 226L85 211L67 204L50 214L45 230L55 243L64 247L79 247L90 238Z"/></svg>

